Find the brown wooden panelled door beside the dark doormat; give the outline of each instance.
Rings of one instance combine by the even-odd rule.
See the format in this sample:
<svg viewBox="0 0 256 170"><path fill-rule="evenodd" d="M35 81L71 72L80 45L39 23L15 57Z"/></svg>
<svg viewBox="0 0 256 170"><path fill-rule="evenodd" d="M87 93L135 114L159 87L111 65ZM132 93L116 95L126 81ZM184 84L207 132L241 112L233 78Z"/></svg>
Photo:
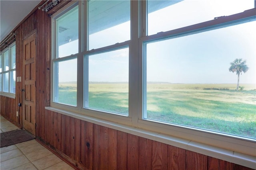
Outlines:
<svg viewBox="0 0 256 170"><path fill-rule="evenodd" d="M23 40L23 128L36 135L36 33Z"/></svg>

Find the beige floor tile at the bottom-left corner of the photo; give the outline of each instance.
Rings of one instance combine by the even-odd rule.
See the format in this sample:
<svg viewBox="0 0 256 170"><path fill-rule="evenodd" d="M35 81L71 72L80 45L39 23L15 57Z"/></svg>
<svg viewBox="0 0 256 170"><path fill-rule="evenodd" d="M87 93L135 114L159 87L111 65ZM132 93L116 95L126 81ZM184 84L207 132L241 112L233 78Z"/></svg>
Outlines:
<svg viewBox="0 0 256 170"><path fill-rule="evenodd" d="M0 169L1 170L10 170L13 168L17 168L29 162L28 158L25 155L18 156L16 158L12 158L6 161L1 162Z"/></svg>

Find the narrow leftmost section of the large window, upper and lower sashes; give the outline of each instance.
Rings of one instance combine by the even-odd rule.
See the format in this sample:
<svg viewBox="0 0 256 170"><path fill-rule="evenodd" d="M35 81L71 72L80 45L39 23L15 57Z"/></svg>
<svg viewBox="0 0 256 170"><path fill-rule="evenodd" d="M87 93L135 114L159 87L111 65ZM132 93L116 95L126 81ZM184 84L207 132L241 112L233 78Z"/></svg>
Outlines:
<svg viewBox="0 0 256 170"><path fill-rule="evenodd" d="M78 6L54 20L53 102L77 105Z"/></svg>

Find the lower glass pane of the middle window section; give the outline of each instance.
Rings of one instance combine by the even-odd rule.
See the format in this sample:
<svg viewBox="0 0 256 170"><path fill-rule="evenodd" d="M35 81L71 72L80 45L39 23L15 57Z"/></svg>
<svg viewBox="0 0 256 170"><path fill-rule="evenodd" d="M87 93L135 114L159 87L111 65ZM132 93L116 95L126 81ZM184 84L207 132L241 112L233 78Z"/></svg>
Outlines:
<svg viewBox="0 0 256 170"><path fill-rule="evenodd" d="M90 55L88 107L128 115L129 49Z"/></svg>

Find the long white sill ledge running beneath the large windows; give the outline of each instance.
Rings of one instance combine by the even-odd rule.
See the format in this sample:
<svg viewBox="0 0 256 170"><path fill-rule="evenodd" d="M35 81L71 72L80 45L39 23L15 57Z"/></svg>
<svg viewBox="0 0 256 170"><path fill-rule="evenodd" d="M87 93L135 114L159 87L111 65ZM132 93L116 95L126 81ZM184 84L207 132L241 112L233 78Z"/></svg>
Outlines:
<svg viewBox="0 0 256 170"><path fill-rule="evenodd" d="M139 129L137 127L121 125L119 123L113 123L111 121L106 121L103 119L89 117L86 115L81 115L78 113L73 113L70 111L65 111L62 109L54 108L54 107L45 107L45 109L54 111L54 112L57 112L60 114L64 114L64 115L67 115L70 117L74 117L76 119L88 121L90 123L95 123L97 125L102 125L104 127L116 129L118 131L130 133L132 135L144 137L146 139L150 139L150 140L158 141L158 142L165 143L168 145L172 145L174 147L179 147L182 149L190 150L193 152L197 152L200 154L204 154L207 156L211 156L214 158L218 158L221 160L225 160L228 162L246 166L249 168L255 169L255 167L256 167L256 157L255 156L250 156L250 155L242 154L239 152L234 152L232 150L226 150L226 149L222 149L222 148L218 148L218 147L213 147L210 145L205 145L202 143L189 141L189 140L185 140L185 139L181 139L181 138L177 138L177 137L172 137L170 135L164 135L164 134L152 132L149 130Z"/></svg>

